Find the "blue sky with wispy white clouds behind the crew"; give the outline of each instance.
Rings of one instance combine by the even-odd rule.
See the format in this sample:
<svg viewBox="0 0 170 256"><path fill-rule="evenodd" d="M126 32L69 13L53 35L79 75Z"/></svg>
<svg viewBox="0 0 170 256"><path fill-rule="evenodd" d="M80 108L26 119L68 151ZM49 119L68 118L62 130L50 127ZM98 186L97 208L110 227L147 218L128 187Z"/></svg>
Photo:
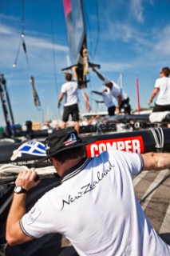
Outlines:
<svg viewBox="0 0 170 256"><path fill-rule="evenodd" d="M170 0L83 0L83 6L89 61L100 64L98 71L115 82L122 74L132 109L137 108L138 78L140 106L148 107L160 69L170 66ZM27 54L20 46L22 31ZM64 101L57 109L57 98L68 56L62 0L0 0L0 74L6 78L15 123L61 119ZM34 76L40 108L34 106L30 76ZM102 82L91 69L88 79L92 111L105 111L105 105L95 102L101 96L91 93L103 90ZM86 111L84 103L82 98L81 114Z"/></svg>

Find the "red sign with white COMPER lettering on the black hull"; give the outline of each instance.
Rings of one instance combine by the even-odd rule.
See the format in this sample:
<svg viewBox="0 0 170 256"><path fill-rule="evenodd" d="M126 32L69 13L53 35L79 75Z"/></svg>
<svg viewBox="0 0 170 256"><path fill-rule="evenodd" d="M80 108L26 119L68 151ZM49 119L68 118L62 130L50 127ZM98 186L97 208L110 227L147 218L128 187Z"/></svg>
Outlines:
<svg viewBox="0 0 170 256"><path fill-rule="evenodd" d="M93 158L94 156L101 154L101 152L109 149L143 154L144 142L141 136L128 138L109 138L87 145L86 153L88 157Z"/></svg>

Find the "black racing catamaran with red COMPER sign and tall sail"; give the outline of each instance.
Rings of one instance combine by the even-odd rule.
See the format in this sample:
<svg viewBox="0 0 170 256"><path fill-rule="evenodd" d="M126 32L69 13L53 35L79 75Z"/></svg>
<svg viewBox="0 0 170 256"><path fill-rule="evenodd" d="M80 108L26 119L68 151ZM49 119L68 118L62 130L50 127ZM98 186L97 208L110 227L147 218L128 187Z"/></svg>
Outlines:
<svg viewBox="0 0 170 256"><path fill-rule="evenodd" d="M72 60L73 65L63 68L62 71L69 70L72 66L77 66L79 88L80 90L84 90L88 86L86 75L89 72L89 68L93 66L100 68L100 65L89 62L85 18L83 16L83 1L63 0L63 8L65 11L70 59ZM33 78L31 79L31 83L34 88ZM10 118L6 108L7 102L8 104L10 102L8 100L6 101L5 97L8 98L8 96L4 93L3 86L4 84L1 84L0 94L2 97L2 108L6 118L6 137L11 141L14 140L14 142L10 142L10 140L6 142L5 138L2 138L0 142L0 216L3 219L2 237L4 237L6 213L10 206L14 181L21 168L35 168L39 173L39 177L42 178L40 185L28 194L27 209L30 209L34 204L34 201L42 196L42 194L50 190L53 186L57 186L57 176L53 174L53 166L49 166L49 162L42 163L42 166L36 166L38 159L45 156L44 140L49 134L49 130L34 131L31 130L28 124L26 132L17 132L14 130L14 134L12 134L10 129ZM10 115L12 115L11 111ZM94 115L95 114L93 114L93 116ZM139 154L150 151L170 152L170 130L166 127L168 122L170 122L169 113L165 113L164 115L157 114L156 116L153 114L132 114L117 115L113 117L107 116L106 113L104 116L101 114L100 121L96 122L95 125L81 126L81 134L86 136L87 139L91 136L97 138L97 142L86 146L86 154L89 157L94 157L109 148L136 152ZM123 133L117 132L117 125L120 123L124 125ZM132 129L130 130L129 127L132 127ZM53 132L53 130L50 130L50 133L51 132ZM18 137L21 136L26 137L26 141L22 142L19 140ZM58 246L56 246L56 241L58 241ZM58 251L64 251L67 247L61 247L61 241L61 235L49 234L45 236L45 238L36 239L23 246L16 246L14 249L7 246L6 251L7 255L14 256L17 254L22 256L23 250L26 255L38 255L39 251L42 251L43 248L47 247L48 255L58 255ZM6 245L5 239L4 245ZM52 247L53 253L51 254L50 251L52 251ZM56 248L56 251L54 251L54 248ZM70 247L70 250L67 250L66 254L69 256L73 255L73 253L76 255L73 248L71 249Z"/></svg>

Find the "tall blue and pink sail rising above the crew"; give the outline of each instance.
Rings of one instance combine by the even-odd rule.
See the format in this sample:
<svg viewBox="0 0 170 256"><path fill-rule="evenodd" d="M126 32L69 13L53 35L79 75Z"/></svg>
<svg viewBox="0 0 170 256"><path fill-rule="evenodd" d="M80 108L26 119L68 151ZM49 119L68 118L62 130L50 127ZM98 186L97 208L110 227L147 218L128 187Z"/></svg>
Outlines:
<svg viewBox="0 0 170 256"><path fill-rule="evenodd" d="M69 58L72 65L81 62L80 54L85 43L85 22L81 0L63 0L67 38L69 42Z"/></svg>

